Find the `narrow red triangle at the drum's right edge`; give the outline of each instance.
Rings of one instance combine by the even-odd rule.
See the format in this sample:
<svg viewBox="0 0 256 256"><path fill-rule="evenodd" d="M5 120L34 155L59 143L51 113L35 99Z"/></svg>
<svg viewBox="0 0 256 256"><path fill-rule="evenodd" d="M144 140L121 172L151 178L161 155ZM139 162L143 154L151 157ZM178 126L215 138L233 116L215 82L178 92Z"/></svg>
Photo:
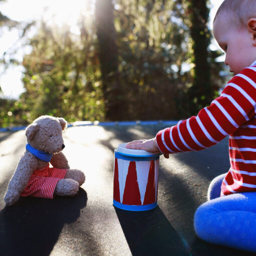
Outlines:
<svg viewBox="0 0 256 256"><path fill-rule="evenodd" d="M151 161L148 183L147 183L143 205L152 204L155 202L156 202L155 162Z"/></svg>

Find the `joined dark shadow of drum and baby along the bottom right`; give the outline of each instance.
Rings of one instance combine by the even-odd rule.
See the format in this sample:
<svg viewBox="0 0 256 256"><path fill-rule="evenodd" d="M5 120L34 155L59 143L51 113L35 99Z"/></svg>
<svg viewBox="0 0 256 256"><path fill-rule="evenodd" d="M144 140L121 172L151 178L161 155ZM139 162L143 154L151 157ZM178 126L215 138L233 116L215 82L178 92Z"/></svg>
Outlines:
<svg viewBox="0 0 256 256"><path fill-rule="evenodd" d="M195 234L188 241L174 229L159 206L141 212L114 209L132 255L255 255L205 242Z"/></svg>

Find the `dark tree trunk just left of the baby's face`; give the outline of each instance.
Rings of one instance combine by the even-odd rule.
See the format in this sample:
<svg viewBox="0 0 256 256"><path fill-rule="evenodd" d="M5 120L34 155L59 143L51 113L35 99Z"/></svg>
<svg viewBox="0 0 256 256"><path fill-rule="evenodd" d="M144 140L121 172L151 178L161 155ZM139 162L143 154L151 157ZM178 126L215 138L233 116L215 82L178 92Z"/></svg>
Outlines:
<svg viewBox="0 0 256 256"><path fill-rule="evenodd" d="M207 47L210 43L210 34L207 28L209 9L207 0L189 0L191 37L194 50L193 85L188 92L190 112L197 112L208 105L213 99L213 89L210 81L210 63L208 62Z"/></svg>

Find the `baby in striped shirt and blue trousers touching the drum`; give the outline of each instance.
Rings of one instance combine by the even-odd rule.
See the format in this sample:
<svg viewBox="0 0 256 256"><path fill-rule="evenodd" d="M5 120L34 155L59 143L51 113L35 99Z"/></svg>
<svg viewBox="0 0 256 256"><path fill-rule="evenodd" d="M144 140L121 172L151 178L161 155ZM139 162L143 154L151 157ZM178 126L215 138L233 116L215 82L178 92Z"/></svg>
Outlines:
<svg viewBox="0 0 256 256"><path fill-rule="evenodd" d="M221 95L197 116L126 148L169 158L203 150L229 135L230 169L211 182L208 202L195 213L195 231L208 242L256 252L256 1L225 0L213 34L234 73Z"/></svg>

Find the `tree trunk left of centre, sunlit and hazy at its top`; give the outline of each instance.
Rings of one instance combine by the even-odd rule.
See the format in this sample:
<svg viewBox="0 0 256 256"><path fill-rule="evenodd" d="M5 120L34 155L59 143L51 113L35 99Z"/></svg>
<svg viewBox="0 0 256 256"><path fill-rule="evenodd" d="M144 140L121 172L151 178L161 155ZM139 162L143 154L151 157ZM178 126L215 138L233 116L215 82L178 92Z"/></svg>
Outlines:
<svg viewBox="0 0 256 256"><path fill-rule="evenodd" d="M111 0L97 0L95 6L98 56L103 82L106 120L122 120L121 85L118 83L116 34Z"/></svg>

